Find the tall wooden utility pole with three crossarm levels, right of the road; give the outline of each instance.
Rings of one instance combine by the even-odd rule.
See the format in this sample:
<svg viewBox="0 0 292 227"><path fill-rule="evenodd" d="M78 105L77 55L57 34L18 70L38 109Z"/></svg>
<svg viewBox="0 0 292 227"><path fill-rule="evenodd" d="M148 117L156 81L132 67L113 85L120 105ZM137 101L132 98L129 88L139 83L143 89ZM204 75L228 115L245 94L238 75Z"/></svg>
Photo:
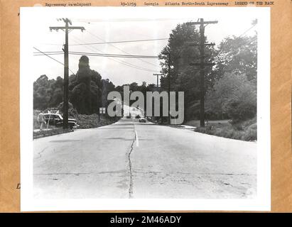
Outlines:
<svg viewBox="0 0 292 227"><path fill-rule="evenodd" d="M190 65L200 66L200 127L205 127L205 67L214 65L213 63L205 63L205 45L215 45L214 43L205 43L205 25L210 23L218 23L218 21L204 21L200 18L198 22L187 23L190 26L200 25L200 63L191 63Z"/></svg>

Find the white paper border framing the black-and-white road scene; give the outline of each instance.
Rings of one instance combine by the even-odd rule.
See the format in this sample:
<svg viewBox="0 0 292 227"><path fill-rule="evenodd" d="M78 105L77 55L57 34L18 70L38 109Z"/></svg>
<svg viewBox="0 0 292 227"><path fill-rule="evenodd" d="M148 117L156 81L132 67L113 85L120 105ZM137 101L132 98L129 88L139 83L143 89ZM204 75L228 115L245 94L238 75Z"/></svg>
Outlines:
<svg viewBox="0 0 292 227"><path fill-rule="evenodd" d="M151 211L270 211L271 210L271 136L270 136L270 8L269 7L108 7L121 15L142 15L149 11L195 11L206 15L212 11L247 11L258 18L258 80L257 80L257 176L255 199L34 199L33 198L33 79L31 62L33 20L43 12L55 18L92 7L21 7L20 65L20 140L21 140L21 211L81 210L151 210ZM143 14L144 13L144 14ZM158 13L156 13L158 15Z"/></svg>

